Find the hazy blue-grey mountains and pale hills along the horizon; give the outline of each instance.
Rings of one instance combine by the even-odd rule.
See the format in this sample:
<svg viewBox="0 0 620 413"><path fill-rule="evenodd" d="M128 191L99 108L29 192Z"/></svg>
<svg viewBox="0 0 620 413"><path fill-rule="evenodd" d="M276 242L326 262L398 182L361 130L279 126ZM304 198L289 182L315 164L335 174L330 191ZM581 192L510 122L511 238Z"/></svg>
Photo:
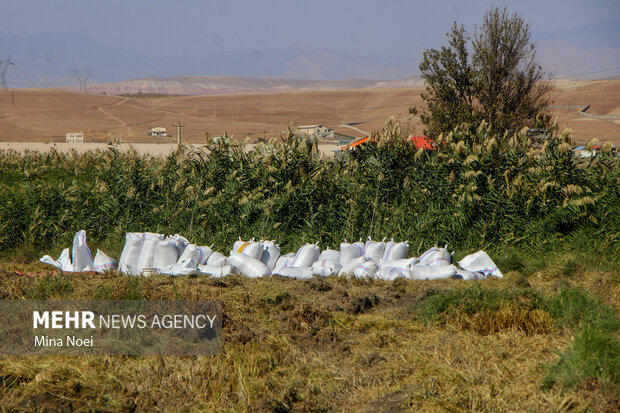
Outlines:
<svg viewBox="0 0 620 413"><path fill-rule="evenodd" d="M612 20L570 30L533 32L533 38L538 42L538 61L556 75L581 76L597 72L604 77L606 72L601 70L620 67L619 28L620 20ZM411 76L419 74L421 58L421 54L377 58L303 46L218 52L201 57L148 57L77 34L16 36L0 32L0 59L9 54L15 66L9 68L6 79L13 88L75 86L78 81L70 71L78 69L84 74L91 68L93 74L89 84L116 82L107 89L93 85L90 87L93 92L118 90L133 93L130 91L138 90L154 93L153 90L161 90L163 93L165 90L165 93L187 93L193 82L195 89L192 94L244 91L243 82L231 83L231 77L265 78L260 87L256 79L251 80L248 87L255 91L415 85L419 79ZM620 72L608 73L617 75ZM200 76L201 80L192 81L190 76ZM127 79L136 80L128 83L125 82ZM323 81L304 83L290 79ZM343 82L341 79L358 80ZM336 80L339 82L329 82ZM140 82L149 88L136 89ZM133 86L129 87L129 84ZM176 89L172 84L176 84Z"/></svg>

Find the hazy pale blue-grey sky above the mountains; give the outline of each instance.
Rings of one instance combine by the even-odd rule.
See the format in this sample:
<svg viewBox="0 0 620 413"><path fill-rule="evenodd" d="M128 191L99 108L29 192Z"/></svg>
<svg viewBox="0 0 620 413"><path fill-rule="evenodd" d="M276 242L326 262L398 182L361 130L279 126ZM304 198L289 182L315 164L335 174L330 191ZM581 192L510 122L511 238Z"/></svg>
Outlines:
<svg viewBox="0 0 620 413"><path fill-rule="evenodd" d="M1 0L0 30L79 33L148 56L307 45L369 56L437 47L507 4L533 30L620 18L620 0Z"/></svg>

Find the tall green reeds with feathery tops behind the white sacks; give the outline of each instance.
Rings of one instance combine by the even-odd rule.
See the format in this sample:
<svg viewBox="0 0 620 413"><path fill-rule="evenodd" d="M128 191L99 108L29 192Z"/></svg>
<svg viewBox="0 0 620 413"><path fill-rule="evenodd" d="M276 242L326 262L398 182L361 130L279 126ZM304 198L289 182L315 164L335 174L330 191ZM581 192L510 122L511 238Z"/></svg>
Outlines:
<svg viewBox="0 0 620 413"><path fill-rule="evenodd" d="M120 252L124 233L181 233L226 250L241 237L285 249L344 239L408 239L413 252L540 246L579 231L617 250L618 162L573 158L570 133L540 149L525 131L490 134L463 125L437 151L416 150L389 119L356 157L308 154L292 139L180 148L166 158L107 151L0 151L0 255L35 257L70 243Z"/></svg>

